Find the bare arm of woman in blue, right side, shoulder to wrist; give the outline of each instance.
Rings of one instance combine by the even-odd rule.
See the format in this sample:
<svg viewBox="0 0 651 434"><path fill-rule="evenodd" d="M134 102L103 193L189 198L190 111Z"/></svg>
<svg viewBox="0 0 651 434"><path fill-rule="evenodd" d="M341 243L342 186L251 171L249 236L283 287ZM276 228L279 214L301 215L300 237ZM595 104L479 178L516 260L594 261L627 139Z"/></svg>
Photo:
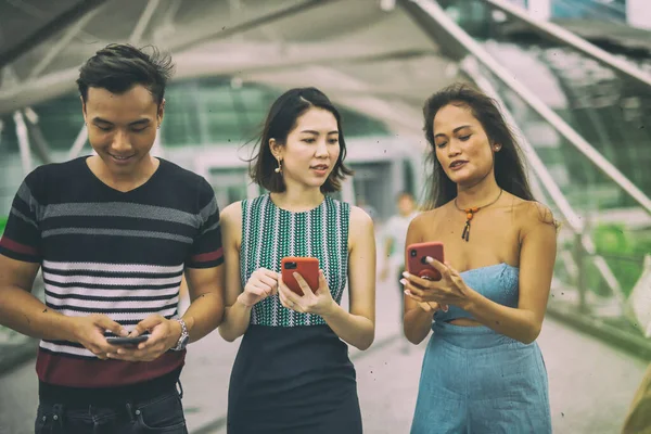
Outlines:
<svg viewBox="0 0 651 434"><path fill-rule="evenodd" d="M461 307L484 326L528 344L542 328L556 261L557 232L547 208L531 203L523 214L518 308L492 302L475 291L469 292Z"/></svg>

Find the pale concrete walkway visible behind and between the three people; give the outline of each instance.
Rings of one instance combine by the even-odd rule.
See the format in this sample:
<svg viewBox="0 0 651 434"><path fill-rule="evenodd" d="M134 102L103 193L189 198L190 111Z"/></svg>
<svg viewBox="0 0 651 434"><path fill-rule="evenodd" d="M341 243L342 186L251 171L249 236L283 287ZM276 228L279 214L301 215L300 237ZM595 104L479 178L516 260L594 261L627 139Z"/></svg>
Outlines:
<svg viewBox="0 0 651 434"><path fill-rule="evenodd" d="M408 433L416 403L424 344L405 344L398 306L397 291L381 284L375 343L365 353L352 350L365 432L370 434ZM538 342L549 372L554 433L618 433L646 363L550 319ZM237 350L238 343L225 342L217 332L190 346L181 379L190 433L226 433L227 388ZM1 378L0 391L0 433L33 433L34 361Z"/></svg>

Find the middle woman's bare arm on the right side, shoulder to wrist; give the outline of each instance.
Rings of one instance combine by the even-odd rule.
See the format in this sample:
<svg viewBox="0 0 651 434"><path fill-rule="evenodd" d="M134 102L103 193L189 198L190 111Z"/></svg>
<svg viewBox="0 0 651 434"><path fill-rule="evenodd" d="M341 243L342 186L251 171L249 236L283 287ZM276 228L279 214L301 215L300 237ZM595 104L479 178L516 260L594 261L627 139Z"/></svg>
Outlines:
<svg viewBox="0 0 651 434"><path fill-rule="evenodd" d="M323 319L343 341L363 350L375 337L375 237L373 221L356 206L350 209L350 228L355 228L348 235L350 311L333 303Z"/></svg>

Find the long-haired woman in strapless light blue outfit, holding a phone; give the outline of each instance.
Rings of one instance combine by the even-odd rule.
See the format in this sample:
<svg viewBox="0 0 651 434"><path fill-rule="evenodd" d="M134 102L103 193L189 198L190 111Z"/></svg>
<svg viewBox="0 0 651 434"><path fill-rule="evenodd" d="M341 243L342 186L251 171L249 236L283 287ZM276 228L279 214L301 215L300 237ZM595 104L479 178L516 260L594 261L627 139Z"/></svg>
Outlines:
<svg viewBox="0 0 651 434"><path fill-rule="evenodd" d="M433 331L411 433L551 433L535 341L556 260L556 221L534 201L493 100L456 85L427 100L424 114L433 207L411 222L406 244L443 242L445 259L425 259L441 280L406 272L401 281L407 339L419 344Z"/></svg>

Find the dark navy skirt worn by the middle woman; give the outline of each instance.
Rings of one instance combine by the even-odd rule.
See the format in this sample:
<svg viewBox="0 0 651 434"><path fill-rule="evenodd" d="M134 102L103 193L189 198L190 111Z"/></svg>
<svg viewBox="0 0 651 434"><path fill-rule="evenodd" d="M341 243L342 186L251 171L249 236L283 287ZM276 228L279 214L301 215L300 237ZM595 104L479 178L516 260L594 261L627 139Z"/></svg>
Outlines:
<svg viewBox="0 0 651 434"><path fill-rule="evenodd" d="M360 434L348 346L328 326L250 326L231 372L228 434Z"/></svg>

